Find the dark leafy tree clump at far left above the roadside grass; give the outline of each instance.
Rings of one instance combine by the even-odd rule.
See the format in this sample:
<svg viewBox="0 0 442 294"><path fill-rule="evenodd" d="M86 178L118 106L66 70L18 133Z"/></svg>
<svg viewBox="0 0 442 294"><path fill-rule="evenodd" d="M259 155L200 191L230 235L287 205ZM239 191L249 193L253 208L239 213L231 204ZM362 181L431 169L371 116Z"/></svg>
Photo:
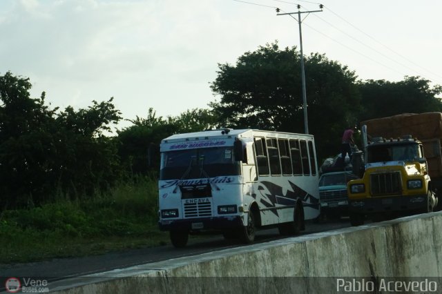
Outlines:
<svg viewBox="0 0 442 294"><path fill-rule="evenodd" d="M0 76L0 204L39 204L64 193L90 196L119 177L115 142L103 135L119 119L112 99L87 109L32 99L28 78Z"/></svg>

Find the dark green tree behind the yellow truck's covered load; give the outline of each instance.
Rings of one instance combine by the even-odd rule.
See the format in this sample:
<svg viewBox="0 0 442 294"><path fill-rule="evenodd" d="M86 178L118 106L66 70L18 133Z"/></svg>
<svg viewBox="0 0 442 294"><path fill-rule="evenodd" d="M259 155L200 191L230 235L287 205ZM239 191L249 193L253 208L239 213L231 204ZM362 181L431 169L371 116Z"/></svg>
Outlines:
<svg viewBox="0 0 442 294"><path fill-rule="evenodd" d="M442 87L430 86L430 81L419 77L405 77L403 81L360 81L365 112L360 120L389 117L401 113L423 113L442 111L441 99L437 98Z"/></svg>

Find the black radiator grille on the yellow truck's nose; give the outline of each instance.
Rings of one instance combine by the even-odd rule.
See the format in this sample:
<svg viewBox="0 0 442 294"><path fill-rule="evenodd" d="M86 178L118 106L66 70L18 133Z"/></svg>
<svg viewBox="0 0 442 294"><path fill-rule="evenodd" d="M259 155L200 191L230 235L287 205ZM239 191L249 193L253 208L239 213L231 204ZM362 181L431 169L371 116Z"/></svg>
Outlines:
<svg viewBox="0 0 442 294"><path fill-rule="evenodd" d="M374 173L370 175L372 195L401 194L402 179L401 172Z"/></svg>

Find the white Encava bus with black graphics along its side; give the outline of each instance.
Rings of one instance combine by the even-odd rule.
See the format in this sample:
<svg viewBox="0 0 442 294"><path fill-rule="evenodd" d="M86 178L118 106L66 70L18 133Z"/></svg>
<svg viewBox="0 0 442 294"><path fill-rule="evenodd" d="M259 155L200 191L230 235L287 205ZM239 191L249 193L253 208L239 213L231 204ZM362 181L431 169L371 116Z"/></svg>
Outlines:
<svg viewBox="0 0 442 294"><path fill-rule="evenodd" d="M160 145L159 225L175 247L189 234L244 243L257 228L299 233L319 215L314 137L264 130L207 130Z"/></svg>

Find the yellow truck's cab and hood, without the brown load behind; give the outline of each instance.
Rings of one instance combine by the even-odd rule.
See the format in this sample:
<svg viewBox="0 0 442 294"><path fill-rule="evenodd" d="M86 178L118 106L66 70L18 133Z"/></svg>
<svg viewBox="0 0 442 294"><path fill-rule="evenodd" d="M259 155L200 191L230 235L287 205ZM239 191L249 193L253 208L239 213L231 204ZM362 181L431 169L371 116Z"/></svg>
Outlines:
<svg viewBox="0 0 442 294"><path fill-rule="evenodd" d="M374 138L365 150L365 173L347 184L352 226L366 217L431 212L437 204L421 141Z"/></svg>

